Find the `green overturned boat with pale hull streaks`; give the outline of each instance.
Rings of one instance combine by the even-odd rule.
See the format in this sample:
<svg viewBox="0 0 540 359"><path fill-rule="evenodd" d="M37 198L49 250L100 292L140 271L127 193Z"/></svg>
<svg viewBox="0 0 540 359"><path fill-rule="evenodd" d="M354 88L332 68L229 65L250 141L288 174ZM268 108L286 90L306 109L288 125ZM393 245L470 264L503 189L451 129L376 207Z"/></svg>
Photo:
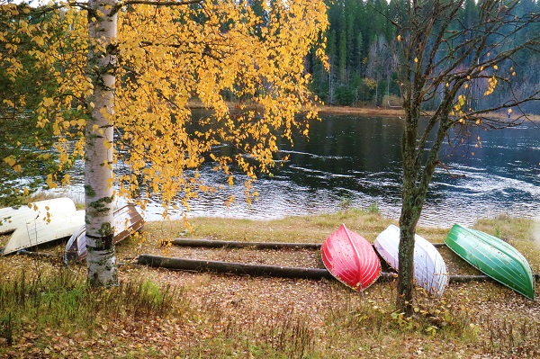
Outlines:
<svg viewBox="0 0 540 359"><path fill-rule="evenodd" d="M514 291L535 300L535 277L527 259L500 238L455 224L446 246L467 263Z"/></svg>

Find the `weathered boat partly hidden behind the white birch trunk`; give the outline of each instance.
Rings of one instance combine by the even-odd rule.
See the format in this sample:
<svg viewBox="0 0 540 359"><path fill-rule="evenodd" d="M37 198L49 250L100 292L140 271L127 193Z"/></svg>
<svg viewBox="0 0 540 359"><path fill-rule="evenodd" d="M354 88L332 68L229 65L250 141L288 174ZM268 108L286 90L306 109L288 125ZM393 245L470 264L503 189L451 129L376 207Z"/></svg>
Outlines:
<svg viewBox="0 0 540 359"><path fill-rule="evenodd" d="M144 220L135 205L128 204L114 211L114 243L141 229ZM86 257L86 227L76 229L66 245L65 262L81 261Z"/></svg>

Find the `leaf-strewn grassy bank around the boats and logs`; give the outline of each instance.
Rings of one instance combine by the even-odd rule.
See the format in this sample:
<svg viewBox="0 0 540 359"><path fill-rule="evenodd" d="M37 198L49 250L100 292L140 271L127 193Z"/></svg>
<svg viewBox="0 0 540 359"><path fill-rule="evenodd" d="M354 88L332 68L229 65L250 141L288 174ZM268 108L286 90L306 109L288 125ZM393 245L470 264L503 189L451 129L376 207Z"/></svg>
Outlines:
<svg viewBox="0 0 540 359"><path fill-rule="evenodd" d="M374 240L392 220L375 212L272 221L193 220L186 237L322 242L342 222ZM532 221L477 224L518 247L540 272ZM447 229L419 229L442 242ZM172 272L135 264L150 253L244 263L319 267L303 250L169 247L179 222L152 222L117 247L121 287L85 287L85 266L54 258L0 257L0 358L534 358L540 308L491 282L452 283L442 300L418 292L412 319L393 312L395 283L364 294L336 281ZM162 242L162 245L158 244ZM42 249L61 253L61 247ZM474 270L441 248L451 274Z"/></svg>

